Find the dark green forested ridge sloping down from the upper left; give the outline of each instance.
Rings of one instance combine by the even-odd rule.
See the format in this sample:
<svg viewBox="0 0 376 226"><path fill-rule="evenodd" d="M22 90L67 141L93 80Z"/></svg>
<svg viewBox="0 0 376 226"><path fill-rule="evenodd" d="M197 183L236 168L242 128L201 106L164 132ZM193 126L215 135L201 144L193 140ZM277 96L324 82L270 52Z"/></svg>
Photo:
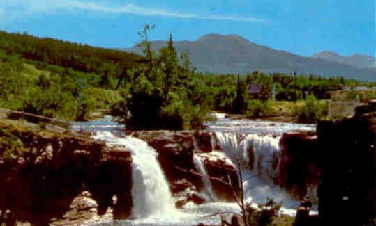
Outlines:
<svg viewBox="0 0 376 226"><path fill-rule="evenodd" d="M4 31L0 31L0 49L7 55L17 54L29 60L96 74L106 70L121 73L116 68L133 67L142 60L136 54L123 51Z"/></svg>

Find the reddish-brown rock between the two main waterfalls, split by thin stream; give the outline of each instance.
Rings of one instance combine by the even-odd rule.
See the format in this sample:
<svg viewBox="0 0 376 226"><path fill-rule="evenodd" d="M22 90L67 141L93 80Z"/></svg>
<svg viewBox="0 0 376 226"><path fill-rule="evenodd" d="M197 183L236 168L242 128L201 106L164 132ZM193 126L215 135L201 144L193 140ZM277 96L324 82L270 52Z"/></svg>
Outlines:
<svg viewBox="0 0 376 226"><path fill-rule="evenodd" d="M145 140L158 152L158 161L170 181L172 192L183 197L189 197L188 191L181 193L176 189L176 181L185 179L193 184L194 191L201 191L203 175L197 171L193 163L193 154L201 153L204 165L211 177L214 191L223 200L233 200L232 191L228 185L227 175L237 181L234 166L223 159L223 155L213 154L211 150L211 133L208 131L137 131L132 136ZM224 183L225 182L225 183ZM180 186L180 185L179 185ZM179 187L178 186L178 187ZM192 187L190 187L192 190ZM181 206L183 201L179 201Z"/></svg>

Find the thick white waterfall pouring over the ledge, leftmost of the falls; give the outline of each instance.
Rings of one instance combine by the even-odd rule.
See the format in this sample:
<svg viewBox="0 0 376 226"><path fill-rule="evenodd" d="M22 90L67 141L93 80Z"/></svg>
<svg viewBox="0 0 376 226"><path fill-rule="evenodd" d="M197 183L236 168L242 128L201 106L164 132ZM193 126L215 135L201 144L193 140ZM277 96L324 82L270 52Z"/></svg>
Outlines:
<svg viewBox="0 0 376 226"><path fill-rule="evenodd" d="M163 216L175 211L156 150L143 140L132 136L116 137L109 131L98 132L94 138L105 140L108 145L123 145L132 152L132 218Z"/></svg>

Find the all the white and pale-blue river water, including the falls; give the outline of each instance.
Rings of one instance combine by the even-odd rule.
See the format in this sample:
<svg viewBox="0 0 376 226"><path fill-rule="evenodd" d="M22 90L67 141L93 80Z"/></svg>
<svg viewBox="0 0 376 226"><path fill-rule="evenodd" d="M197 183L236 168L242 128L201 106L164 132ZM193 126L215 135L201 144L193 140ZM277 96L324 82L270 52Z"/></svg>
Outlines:
<svg viewBox="0 0 376 226"><path fill-rule="evenodd" d="M300 202L273 184L282 158L279 141L282 134L287 131L313 131L315 125L232 120L225 118L223 114L215 116L218 118L217 121L206 123L207 129L212 132L213 145L223 150L228 161L234 163L236 159L241 163L243 178L257 174L257 177L244 183L246 200L262 203L272 197L276 202L283 203L281 213L294 215ZM235 203L218 202L199 156L194 157L195 166L205 175L204 195L209 197L211 202L201 205L188 203L183 209L178 210L174 207L167 180L156 159L157 153L147 143L132 136L120 136L119 133L114 132L123 129L123 126L112 122L110 117L96 122L77 123L73 128L94 131L94 138L105 140L109 145L124 145L132 152L134 181L132 195L135 207L133 207L131 218L98 225L188 226L198 223L218 225L219 216L207 216L223 211L239 212L239 207ZM248 156L249 148L252 148L253 156ZM250 165L253 165L253 168L250 168Z"/></svg>

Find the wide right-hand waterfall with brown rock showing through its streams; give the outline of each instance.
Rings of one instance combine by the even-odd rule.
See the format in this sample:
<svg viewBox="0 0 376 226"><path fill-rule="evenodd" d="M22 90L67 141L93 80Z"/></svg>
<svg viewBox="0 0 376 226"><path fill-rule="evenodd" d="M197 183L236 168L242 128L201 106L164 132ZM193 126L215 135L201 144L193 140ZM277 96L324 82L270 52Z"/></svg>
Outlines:
<svg viewBox="0 0 376 226"><path fill-rule="evenodd" d="M244 183L248 201L262 203L269 197L283 202L284 207L295 209L299 202L273 183L278 177L281 148L280 136L273 134L235 134L216 132L219 147L232 161L239 161L243 178L257 175Z"/></svg>

